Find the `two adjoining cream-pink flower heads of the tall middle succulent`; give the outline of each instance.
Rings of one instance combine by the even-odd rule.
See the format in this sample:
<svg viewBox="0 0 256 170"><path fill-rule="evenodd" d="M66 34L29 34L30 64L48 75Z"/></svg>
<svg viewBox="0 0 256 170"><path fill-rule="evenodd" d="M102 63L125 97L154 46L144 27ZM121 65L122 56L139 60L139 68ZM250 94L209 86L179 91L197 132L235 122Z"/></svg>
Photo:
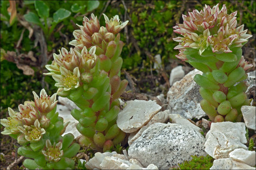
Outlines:
<svg viewBox="0 0 256 170"><path fill-rule="evenodd" d="M93 71L98 55L107 50L107 43L113 41L115 34L118 34L128 23L128 21L124 23L119 21L118 16L109 19L105 14L103 15L106 27L100 26L98 18L93 14L91 19L84 17L83 26L77 25L80 30L73 32L75 40L69 43L75 47L70 48L70 51L62 48L59 54L54 53L52 64L46 65L50 72L45 75L53 76L59 91L74 90L83 85L82 73Z"/></svg>

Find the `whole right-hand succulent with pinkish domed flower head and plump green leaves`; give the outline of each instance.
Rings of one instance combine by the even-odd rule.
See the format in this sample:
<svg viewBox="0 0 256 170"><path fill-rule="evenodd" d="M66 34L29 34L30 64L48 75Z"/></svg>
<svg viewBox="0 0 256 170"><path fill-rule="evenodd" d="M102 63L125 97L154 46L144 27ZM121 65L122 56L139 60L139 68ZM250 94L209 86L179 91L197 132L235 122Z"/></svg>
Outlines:
<svg viewBox="0 0 256 170"><path fill-rule="evenodd" d="M225 5L219 4L183 15L183 24L174 26L181 37L174 49L177 58L190 63L203 72L194 81L201 86L201 108L214 122L242 119L241 107L249 105L247 85L248 64L242 56L242 46L252 35L246 34L244 25L237 27L237 12L227 14Z"/></svg>

